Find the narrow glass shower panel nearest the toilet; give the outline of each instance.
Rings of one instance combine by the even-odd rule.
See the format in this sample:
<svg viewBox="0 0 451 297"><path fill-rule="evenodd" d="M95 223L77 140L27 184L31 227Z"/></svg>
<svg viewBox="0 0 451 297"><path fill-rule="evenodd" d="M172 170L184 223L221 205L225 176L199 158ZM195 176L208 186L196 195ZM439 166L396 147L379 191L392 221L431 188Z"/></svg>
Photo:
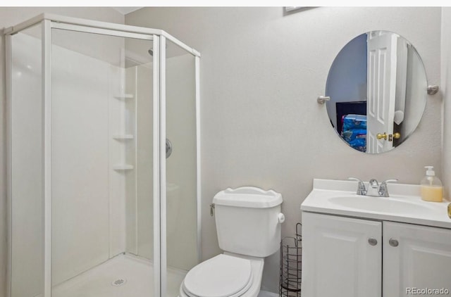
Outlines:
<svg viewBox="0 0 451 297"><path fill-rule="evenodd" d="M198 263L195 58L166 41L166 292Z"/></svg>

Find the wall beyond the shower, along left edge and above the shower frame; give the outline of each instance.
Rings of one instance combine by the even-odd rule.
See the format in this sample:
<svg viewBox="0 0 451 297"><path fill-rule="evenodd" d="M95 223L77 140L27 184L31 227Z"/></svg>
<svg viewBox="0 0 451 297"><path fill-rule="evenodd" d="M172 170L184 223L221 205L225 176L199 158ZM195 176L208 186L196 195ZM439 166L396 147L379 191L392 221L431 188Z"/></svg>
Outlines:
<svg viewBox="0 0 451 297"><path fill-rule="evenodd" d="M111 23L123 23L124 17L112 8L25 8L25 7L1 7L0 27L10 27L23 22L39 13L56 13L78 18L89 18ZM7 227L6 227L6 110L5 110L5 61L4 38L0 39L0 296L3 297L6 289L7 269Z"/></svg>

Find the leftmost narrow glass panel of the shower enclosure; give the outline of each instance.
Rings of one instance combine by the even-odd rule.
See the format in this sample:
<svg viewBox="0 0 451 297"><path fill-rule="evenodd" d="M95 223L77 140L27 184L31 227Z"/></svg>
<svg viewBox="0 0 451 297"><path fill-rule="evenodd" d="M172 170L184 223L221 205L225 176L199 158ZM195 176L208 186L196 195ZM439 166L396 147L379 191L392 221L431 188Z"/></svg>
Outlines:
<svg viewBox="0 0 451 297"><path fill-rule="evenodd" d="M9 49L11 297L44 293L42 26L7 38ZM3 288L2 288L3 289Z"/></svg>

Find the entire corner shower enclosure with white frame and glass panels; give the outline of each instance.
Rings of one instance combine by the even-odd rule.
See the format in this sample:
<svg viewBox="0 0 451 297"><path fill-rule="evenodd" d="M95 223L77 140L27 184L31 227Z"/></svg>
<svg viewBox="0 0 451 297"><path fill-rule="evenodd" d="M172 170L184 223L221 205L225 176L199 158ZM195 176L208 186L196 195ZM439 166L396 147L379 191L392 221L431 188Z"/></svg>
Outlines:
<svg viewBox="0 0 451 297"><path fill-rule="evenodd" d="M8 296L177 296L200 258L200 54L59 15L4 32Z"/></svg>

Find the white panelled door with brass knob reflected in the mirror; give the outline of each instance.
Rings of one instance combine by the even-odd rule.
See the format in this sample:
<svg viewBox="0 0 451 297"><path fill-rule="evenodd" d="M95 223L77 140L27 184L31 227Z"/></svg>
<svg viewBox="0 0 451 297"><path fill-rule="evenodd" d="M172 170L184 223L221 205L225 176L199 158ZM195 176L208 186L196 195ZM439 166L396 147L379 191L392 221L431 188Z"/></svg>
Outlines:
<svg viewBox="0 0 451 297"><path fill-rule="evenodd" d="M367 35L368 153L381 153L393 148L393 141L388 137L393 135L395 117L397 39L397 34L387 34L385 31L373 31Z"/></svg>

